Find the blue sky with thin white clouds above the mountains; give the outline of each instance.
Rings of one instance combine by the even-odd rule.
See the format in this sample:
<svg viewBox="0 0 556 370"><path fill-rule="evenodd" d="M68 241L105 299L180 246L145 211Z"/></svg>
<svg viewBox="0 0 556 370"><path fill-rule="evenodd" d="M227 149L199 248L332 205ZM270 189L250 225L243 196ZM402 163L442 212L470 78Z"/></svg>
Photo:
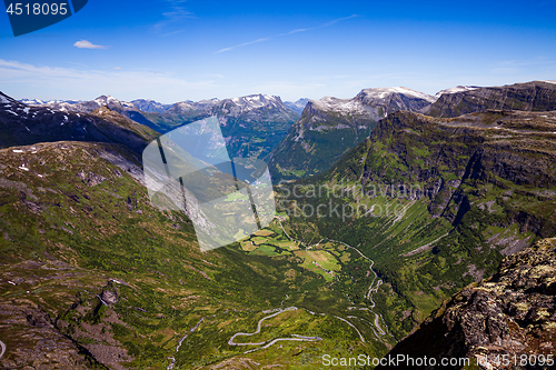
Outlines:
<svg viewBox="0 0 556 370"><path fill-rule="evenodd" d="M555 13L556 1L89 0L17 38L0 14L0 91L171 103L556 80Z"/></svg>

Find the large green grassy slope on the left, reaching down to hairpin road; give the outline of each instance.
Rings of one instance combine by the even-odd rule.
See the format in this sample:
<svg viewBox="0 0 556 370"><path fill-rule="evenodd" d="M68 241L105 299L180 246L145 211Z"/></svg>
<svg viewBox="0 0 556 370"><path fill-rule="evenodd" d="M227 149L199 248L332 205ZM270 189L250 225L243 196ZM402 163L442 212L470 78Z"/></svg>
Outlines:
<svg viewBox="0 0 556 370"><path fill-rule="evenodd" d="M147 190L131 177L138 174L137 158L123 147L57 142L14 149L0 150L2 312L39 308L49 326L89 357L88 367L160 369L175 356L178 369L238 364L240 358L314 369L322 353L342 353L349 347L386 352L366 323L374 316L355 313L366 343L334 318L345 318L350 304L339 288L346 279L338 277L330 286L321 271L305 269L304 259L292 251L278 253L279 247L268 249L268 256L242 251L239 243L201 253L183 214L151 208ZM272 228L275 239L284 239ZM350 263L364 261L345 258L345 269ZM103 292L115 292L118 301L103 306L96 296ZM297 333L322 341L285 341L249 354L227 344L238 331L255 331L261 311L282 307L286 294L284 307L301 310L269 320L259 338ZM175 353L178 340L201 318ZM2 361L27 361L21 351L38 350L37 341L24 336L29 319L23 317L10 331L0 328L10 349ZM34 366L41 363L48 359Z"/></svg>

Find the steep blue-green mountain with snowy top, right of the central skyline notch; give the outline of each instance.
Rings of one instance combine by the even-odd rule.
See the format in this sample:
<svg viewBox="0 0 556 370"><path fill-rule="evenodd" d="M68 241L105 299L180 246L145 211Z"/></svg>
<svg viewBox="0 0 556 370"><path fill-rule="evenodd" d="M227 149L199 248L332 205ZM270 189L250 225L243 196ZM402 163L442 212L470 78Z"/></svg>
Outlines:
<svg viewBox="0 0 556 370"><path fill-rule="evenodd" d="M353 99L311 100L274 150L275 179L320 173L365 140L377 121L398 110L418 110L435 98L406 88L363 90Z"/></svg>

